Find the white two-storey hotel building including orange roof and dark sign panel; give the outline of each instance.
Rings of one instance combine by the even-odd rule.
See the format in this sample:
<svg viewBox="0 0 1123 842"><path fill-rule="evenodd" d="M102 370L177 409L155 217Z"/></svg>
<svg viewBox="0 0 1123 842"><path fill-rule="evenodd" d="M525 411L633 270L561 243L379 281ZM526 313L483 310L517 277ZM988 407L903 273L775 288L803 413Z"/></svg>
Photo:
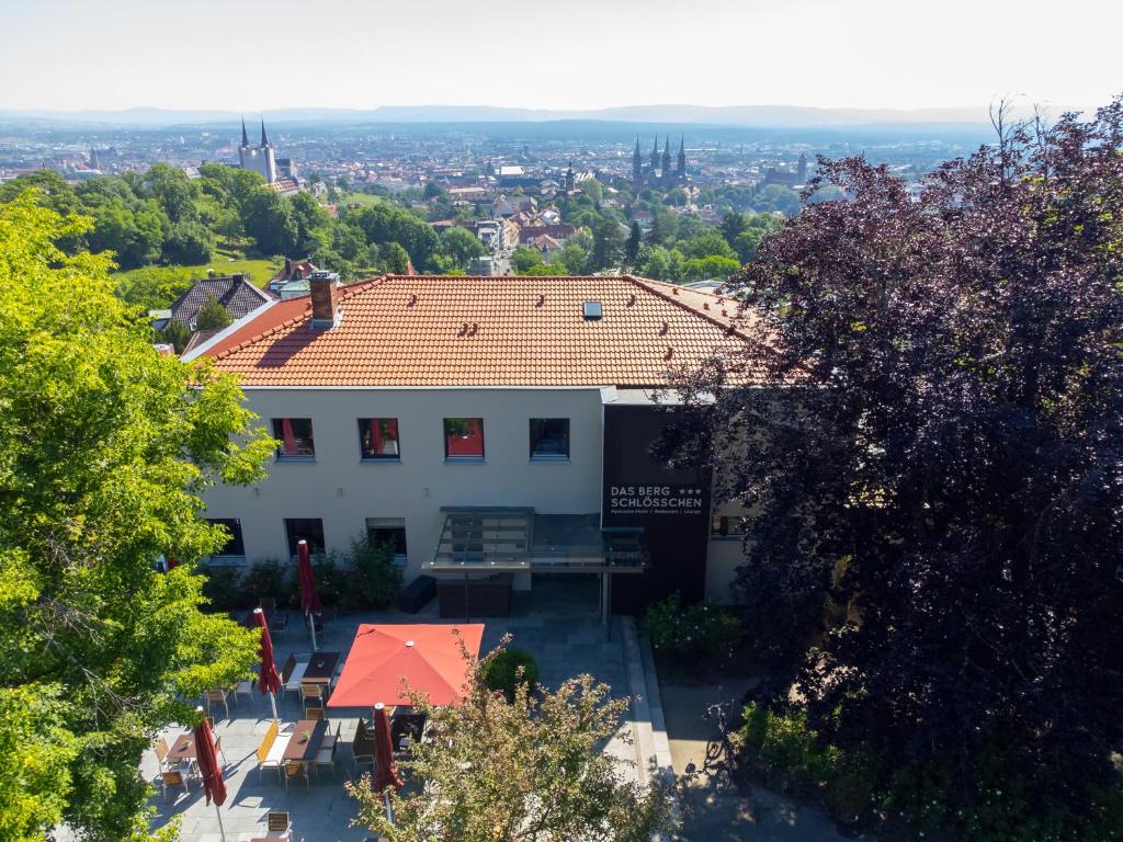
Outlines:
<svg viewBox="0 0 1123 842"><path fill-rule="evenodd" d="M313 283L310 299L231 326L200 350L243 376L249 409L280 445L266 479L206 495L206 516L234 534L214 560L289 559L300 538L346 552L353 539L373 536L394 544L407 583L491 568L527 589L537 573L569 570L614 578L618 611L675 591L728 602L743 560L740 520L734 509L712 511L704 472L669 473L648 455L665 422L651 387L573 382L603 379L613 368L620 381L650 377L628 359L648 349L634 340L617 347L618 335L650 332L664 364L676 347L666 339L673 328L678 347L690 331L703 342L728 338L728 327L699 319L716 296L676 301L687 293L665 286L402 276L340 295ZM594 295L601 315L587 318L581 302ZM557 312L536 313L549 298L560 299ZM422 301L433 311L410 312ZM628 313L639 306L649 312ZM521 311L514 319L503 314L512 308ZM436 312L451 319L439 323ZM610 320L620 323L602 330ZM408 350L403 341L413 356L398 356ZM613 350L623 363L603 357ZM426 375L437 382L413 382ZM465 513L524 525L494 546L456 547L454 521ZM617 571L628 575L612 577L613 542L632 538L642 569L621 553L628 569Z"/></svg>

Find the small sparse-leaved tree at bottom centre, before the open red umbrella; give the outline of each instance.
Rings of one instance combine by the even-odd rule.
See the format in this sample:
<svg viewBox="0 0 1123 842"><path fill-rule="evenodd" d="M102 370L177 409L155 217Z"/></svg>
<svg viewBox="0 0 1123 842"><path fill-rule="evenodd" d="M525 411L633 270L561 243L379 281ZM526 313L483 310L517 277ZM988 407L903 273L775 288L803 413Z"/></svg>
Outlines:
<svg viewBox="0 0 1123 842"><path fill-rule="evenodd" d="M358 823L390 842L646 842L669 831L665 785L622 779L618 761L603 751L629 699L612 698L608 685L579 676L533 695L517 683L508 703L484 678L505 643L473 666L464 704L433 707L413 694L413 705L440 734L416 743L413 759L403 763L426 787L390 788L390 822L369 776L347 784L359 803Z"/></svg>

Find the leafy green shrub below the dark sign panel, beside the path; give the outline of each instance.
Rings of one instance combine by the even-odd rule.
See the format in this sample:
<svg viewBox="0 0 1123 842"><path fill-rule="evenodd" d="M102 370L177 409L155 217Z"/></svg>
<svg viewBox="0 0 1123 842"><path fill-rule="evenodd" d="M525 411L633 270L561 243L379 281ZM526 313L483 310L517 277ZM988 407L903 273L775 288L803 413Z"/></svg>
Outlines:
<svg viewBox="0 0 1123 842"><path fill-rule="evenodd" d="M655 649L693 662L731 655L741 640L731 611L704 603L684 607L678 594L650 605L641 625Z"/></svg>

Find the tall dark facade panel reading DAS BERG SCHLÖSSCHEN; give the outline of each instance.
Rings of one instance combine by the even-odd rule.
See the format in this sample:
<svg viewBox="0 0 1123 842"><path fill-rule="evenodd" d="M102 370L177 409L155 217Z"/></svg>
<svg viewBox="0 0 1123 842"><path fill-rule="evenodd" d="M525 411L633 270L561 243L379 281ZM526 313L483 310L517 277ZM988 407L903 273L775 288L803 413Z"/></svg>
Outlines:
<svg viewBox="0 0 1123 842"><path fill-rule="evenodd" d="M670 470L651 455L669 419L660 406L604 408L601 522L605 529L641 527L649 556L646 573L613 577L612 610L619 613L639 613L675 592L693 602L705 591L709 473Z"/></svg>

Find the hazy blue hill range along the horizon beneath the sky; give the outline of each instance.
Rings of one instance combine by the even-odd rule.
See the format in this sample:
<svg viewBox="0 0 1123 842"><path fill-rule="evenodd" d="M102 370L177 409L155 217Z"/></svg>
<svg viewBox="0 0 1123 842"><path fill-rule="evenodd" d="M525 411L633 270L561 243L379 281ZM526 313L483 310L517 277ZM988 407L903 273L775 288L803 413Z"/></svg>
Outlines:
<svg viewBox="0 0 1123 842"><path fill-rule="evenodd" d="M237 121L234 111L133 108L122 111L0 110L6 122L100 123L138 128L166 128ZM246 115L257 119L258 115ZM271 122L545 122L603 120L643 123L706 123L759 128L811 128L870 125L985 123L986 108L858 109L800 106L622 106L585 111L500 108L491 106L383 106L381 108L290 108L265 111Z"/></svg>

